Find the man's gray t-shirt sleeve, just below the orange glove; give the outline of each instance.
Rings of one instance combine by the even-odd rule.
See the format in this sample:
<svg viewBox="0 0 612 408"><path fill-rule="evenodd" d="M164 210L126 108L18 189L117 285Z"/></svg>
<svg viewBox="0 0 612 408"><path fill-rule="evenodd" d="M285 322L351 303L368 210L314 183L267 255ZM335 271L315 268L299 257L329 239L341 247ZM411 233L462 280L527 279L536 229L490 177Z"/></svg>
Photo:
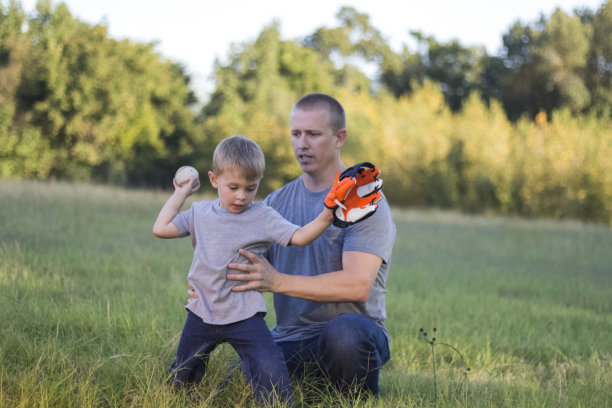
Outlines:
<svg viewBox="0 0 612 408"><path fill-rule="evenodd" d="M347 228L343 251L365 252L380 257L385 263L390 261L395 224L386 199L379 201L374 215Z"/></svg>

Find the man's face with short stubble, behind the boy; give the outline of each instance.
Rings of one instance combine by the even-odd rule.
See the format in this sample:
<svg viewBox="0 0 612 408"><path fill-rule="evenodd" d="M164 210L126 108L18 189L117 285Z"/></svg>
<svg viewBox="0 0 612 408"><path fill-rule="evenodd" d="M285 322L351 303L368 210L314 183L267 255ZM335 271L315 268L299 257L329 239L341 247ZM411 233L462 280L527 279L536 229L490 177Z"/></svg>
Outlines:
<svg viewBox="0 0 612 408"><path fill-rule="evenodd" d="M325 109L294 110L289 121L293 153L304 173L337 166L342 141L329 126Z"/></svg>

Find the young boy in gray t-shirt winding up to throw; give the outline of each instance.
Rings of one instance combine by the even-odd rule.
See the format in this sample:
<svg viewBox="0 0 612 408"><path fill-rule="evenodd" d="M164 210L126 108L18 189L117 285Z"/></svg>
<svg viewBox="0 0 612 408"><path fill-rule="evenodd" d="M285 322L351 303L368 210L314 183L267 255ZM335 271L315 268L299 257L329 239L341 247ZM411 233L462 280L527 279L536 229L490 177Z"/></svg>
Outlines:
<svg viewBox="0 0 612 408"><path fill-rule="evenodd" d="M263 202L253 202L263 177L265 160L253 141L232 136L219 143L208 172L219 198L195 202L180 212L185 199L197 191L199 181L183 185L174 180L175 191L161 209L153 227L159 238L191 236L194 249L188 281L198 298L187 306L187 320L170 370L174 383L199 382L208 356L220 343L230 343L243 363L260 405L276 393L292 405L287 366L263 319L266 304L256 291L233 292L236 282L226 280L228 264L248 263L240 248L263 254L272 243L308 245L332 223L325 208L304 227L294 225ZM334 201L335 189L327 200ZM235 273L235 271L234 271Z"/></svg>

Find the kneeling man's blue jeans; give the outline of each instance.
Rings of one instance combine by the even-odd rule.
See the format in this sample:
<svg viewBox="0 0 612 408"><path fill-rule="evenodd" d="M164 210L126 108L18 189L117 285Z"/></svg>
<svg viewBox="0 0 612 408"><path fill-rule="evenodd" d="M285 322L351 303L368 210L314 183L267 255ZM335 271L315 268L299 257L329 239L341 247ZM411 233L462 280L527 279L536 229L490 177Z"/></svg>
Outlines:
<svg viewBox="0 0 612 408"><path fill-rule="evenodd" d="M390 357L389 341L369 317L341 314L319 336L277 344L290 375L326 375L340 391L369 391L378 397L380 369Z"/></svg>

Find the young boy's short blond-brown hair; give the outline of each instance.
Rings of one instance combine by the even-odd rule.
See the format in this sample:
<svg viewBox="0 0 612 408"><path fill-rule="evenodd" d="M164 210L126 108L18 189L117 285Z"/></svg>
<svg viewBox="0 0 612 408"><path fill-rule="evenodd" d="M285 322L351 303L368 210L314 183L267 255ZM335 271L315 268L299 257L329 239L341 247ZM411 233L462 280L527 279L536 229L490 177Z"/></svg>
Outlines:
<svg viewBox="0 0 612 408"><path fill-rule="evenodd" d="M213 172L238 170L247 180L259 180L266 169L261 147L251 139L236 135L223 139L213 153Z"/></svg>

